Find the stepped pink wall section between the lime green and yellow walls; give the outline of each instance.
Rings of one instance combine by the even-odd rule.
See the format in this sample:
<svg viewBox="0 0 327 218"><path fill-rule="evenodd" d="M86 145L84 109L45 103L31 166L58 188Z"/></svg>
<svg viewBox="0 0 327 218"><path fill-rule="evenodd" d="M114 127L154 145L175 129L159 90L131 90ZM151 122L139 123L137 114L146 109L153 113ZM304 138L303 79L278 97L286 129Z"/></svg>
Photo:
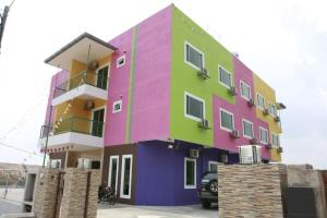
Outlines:
<svg viewBox="0 0 327 218"><path fill-rule="evenodd" d="M255 107L249 107L247 101L241 97L240 81L245 82L251 87L252 98L255 98L253 86L253 73L239 59L233 58L235 88L235 105L232 105L217 96L214 96L214 143L215 147L238 152L239 145L250 144L250 140L243 137L242 119L253 122L254 136L259 140L258 126L263 126L269 131L268 124L256 118ZM220 108L223 108L234 114L234 125L240 132L240 138L231 138L229 132L220 129ZM270 158L269 150L263 145L263 157Z"/></svg>

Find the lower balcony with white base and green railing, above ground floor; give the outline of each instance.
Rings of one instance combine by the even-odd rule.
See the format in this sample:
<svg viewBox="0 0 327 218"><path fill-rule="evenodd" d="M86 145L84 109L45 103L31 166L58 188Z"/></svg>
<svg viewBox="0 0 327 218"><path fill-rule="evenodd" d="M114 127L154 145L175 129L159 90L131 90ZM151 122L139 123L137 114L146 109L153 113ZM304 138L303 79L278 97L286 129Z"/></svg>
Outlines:
<svg viewBox="0 0 327 218"><path fill-rule="evenodd" d="M43 125L38 145L44 148L48 136L48 149L70 147L85 150L104 147L104 122L80 117L63 119L55 125Z"/></svg>

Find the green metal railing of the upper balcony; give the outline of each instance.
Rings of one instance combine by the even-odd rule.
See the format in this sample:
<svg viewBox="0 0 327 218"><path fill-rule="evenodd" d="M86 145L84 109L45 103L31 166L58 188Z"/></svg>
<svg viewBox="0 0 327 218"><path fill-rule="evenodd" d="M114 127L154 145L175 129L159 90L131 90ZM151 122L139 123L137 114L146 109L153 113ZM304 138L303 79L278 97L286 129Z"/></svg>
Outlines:
<svg viewBox="0 0 327 218"><path fill-rule="evenodd" d="M89 71L83 71L76 75L72 75L71 78L55 88L53 98L63 95L64 93L72 90L84 84L92 85L101 89L107 88L108 76L102 74L93 73Z"/></svg>

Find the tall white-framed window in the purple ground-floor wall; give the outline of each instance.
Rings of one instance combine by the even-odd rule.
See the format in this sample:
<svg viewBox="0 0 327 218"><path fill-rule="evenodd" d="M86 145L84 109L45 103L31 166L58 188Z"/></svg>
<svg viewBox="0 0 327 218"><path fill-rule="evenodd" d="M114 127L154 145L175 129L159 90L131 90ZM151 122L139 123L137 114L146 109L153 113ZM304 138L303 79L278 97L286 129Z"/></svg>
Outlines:
<svg viewBox="0 0 327 218"><path fill-rule="evenodd" d="M196 159L184 159L184 189L196 189Z"/></svg>

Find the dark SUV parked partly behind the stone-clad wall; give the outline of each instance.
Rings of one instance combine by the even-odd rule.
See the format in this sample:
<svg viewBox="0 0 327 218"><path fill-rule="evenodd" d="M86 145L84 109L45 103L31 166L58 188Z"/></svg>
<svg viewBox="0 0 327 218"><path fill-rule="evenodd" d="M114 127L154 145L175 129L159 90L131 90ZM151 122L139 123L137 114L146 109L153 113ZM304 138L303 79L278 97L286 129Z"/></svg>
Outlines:
<svg viewBox="0 0 327 218"><path fill-rule="evenodd" d="M204 208L209 208L211 203L218 203L217 172L206 172L203 175L198 196Z"/></svg>

